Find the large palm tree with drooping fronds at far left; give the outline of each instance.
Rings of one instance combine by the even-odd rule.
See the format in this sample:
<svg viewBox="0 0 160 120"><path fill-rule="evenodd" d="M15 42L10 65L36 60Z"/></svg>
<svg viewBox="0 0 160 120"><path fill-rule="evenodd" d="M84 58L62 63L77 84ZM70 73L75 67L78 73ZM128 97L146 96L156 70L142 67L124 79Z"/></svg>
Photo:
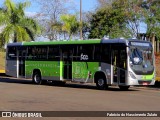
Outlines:
<svg viewBox="0 0 160 120"><path fill-rule="evenodd" d="M40 32L37 22L25 16L24 10L30 5L29 2L15 4L11 0L5 0L4 7L0 10L0 25L4 28L0 34L6 43L34 40Z"/></svg>

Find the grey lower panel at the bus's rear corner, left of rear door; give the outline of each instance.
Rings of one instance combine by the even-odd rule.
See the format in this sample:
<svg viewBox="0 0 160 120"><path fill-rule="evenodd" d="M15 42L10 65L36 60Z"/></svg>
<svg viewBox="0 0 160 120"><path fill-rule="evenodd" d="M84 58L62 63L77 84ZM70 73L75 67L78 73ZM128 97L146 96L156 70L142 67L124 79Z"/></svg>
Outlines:
<svg viewBox="0 0 160 120"><path fill-rule="evenodd" d="M6 60L6 75L17 77L17 60Z"/></svg>

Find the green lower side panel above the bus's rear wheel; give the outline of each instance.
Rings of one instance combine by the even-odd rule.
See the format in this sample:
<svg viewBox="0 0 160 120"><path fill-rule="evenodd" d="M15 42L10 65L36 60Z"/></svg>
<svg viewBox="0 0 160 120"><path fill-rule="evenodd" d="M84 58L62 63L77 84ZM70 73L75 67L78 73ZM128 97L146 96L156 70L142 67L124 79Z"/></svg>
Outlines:
<svg viewBox="0 0 160 120"><path fill-rule="evenodd" d="M38 69L44 80L60 80L59 61L26 61L26 77L31 78L33 70Z"/></svg>

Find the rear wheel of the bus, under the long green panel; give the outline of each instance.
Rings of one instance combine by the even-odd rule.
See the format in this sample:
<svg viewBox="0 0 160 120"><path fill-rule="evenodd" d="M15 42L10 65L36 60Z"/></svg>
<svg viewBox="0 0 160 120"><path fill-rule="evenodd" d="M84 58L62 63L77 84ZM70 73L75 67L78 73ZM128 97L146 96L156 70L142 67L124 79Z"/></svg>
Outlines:
<svg viewBox="0 0 160 120"><path fill-rule="evenodd" d="M33 78L32 78L33 83L37 84L37 85L41 85L42 84L42 79L41 79L41 75L39 72L34 72L33 73Z"/></svg>

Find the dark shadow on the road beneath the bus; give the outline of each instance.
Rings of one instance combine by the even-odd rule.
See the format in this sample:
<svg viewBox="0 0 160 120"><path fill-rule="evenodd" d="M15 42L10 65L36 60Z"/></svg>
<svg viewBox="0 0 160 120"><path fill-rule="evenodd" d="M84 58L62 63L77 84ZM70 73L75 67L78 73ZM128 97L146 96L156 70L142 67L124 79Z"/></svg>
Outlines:
<svg viewBox="0 0 160 120"><path fill-rule="evenodd" d="M28 84L28 85L35 85L32 80L26 80L26 79L16 79L12 77L0 77L0 83L16 83L16 84ZM80 84L80 83L66 83L65 85L61 84L55 84L52 82L47 82L43 86L54 86L54 87L67 87L67 88L79 88L79 89L92 89L92 90L98 90L97 87L94 84ZM123 91L120 90L118 87L112 86L106 89L106 91ZM130 91L140 91L134 88L130 88L126 92Z"/></svg>

